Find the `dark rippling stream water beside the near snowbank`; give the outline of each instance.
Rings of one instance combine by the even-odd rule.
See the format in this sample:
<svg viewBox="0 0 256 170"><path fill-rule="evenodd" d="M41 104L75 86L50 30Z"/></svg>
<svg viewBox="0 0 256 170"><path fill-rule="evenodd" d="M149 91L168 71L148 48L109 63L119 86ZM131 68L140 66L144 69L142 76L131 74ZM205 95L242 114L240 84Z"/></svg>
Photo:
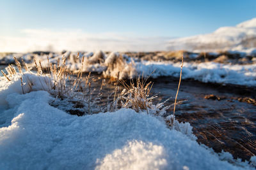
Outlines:
<svg viewBox="0 0 256 170"><path fill-rule="evenodd" d="M166 104L173 104L179 80L170 77L152 79L152 94L158 94L158 101L170 98ZM100 80L93 83L99 87ZM113 92L115 85L107 84L103 89L103 101ZM213 97L205 97L213 94ZM182 80L175 117L180 122L189 122L198 143L213 148L215 152L230 152L235 159L250 160L256 155L256 105L239 101L253 99L256 90L233 85L221 86ZM207 99L208 98L208 99ZM168 115L173 113L173 106Z"/></svg>

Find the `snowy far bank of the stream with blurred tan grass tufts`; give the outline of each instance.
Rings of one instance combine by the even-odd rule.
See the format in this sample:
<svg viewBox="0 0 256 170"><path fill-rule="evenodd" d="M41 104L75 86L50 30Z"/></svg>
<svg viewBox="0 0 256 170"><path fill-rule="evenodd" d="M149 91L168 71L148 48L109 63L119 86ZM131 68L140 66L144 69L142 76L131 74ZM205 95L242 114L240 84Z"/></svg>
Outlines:
<svg viewBox="0 0 256 170"><path fill-rule="evenodd" d="M31 54L25 54L26 60L29 61ZM192 57L195 53L192 54ZM213 55L213 54L212 54ZM214 53L214 55L217 55ZM12 55L6 56L5 60L13 62ZM22 56L22 55L21 55ZM47 67L48 60L46 54L36 55L36 60L42 60L42 66ZM68 69L71 71L78 71L81 67L81 60L84 56L83 72L95 72L103 74L106 77L117 78L136 78L136 76L144 76L152 74L153 78L158 76L174 76L180 75L180 62L172 61L153 61L153 60L136 60L127 55L120 55L119 53L103 53L99 52L84 52L77 53L66 52L61 54L50 53L49 62L56 63L58 59L63 56L67 57L66 63ZM191 57L191 56L189 56ZM30 61L31 62L31 61ZM30 66L33 65L33 62ZM221 64L217 62L184 62L182 79L193 79L205 83L221 83L221 84L234 84L245 85L248 87L256 87L256 64Z"/></svg>

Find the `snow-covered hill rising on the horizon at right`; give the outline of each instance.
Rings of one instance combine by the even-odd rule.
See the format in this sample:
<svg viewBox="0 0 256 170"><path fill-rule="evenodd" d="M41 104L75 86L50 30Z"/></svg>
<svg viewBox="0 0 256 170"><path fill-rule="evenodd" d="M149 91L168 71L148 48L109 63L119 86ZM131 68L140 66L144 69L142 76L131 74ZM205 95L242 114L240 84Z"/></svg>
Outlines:
<svg viewBox="0 0 256 170"><path fill-rule="evenodd" d="M256 18L234 27L220 27L211 34L172 39L168 50L216 51L239 50L247 53L256 49Z"/></svg>

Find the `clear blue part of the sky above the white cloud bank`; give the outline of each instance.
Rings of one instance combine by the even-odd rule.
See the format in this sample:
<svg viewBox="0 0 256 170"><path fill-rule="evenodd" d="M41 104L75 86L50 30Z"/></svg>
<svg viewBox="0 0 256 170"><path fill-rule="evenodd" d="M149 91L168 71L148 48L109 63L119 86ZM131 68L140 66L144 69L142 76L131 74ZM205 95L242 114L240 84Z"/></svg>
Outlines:
<svg viewBox="0 0 256 170"><path fill-rule="evenodd" d="M182 37L256 17L256 1L0 1L1 34L82 29Z"/></svg>

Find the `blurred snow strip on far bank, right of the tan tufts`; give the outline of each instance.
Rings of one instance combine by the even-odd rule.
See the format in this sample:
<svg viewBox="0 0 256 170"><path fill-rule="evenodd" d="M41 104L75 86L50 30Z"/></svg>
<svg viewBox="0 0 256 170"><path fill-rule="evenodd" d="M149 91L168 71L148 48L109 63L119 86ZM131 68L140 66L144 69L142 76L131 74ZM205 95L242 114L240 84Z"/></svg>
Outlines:
<svg viewBox="0 0 256 170"><path fill-rule="evenodd" d="M180 63L173 62L136 62L136 71L144 76L180 76ZM205 83L222 83L234 85L256 86L256 64L220 64L216 62L189 63L184 62L182 79L194 79ZM135 76L135 74L134 74Z"/></svg>

